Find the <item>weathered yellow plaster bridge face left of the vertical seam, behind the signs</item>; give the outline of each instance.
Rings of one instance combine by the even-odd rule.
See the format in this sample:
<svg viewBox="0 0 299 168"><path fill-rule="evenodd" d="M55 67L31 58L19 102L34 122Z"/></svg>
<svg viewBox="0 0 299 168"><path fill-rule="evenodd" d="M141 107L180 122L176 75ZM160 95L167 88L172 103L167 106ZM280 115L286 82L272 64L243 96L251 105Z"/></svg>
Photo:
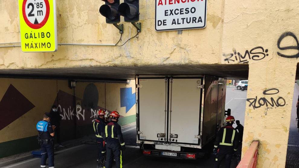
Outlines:
<svg viewBox="0 0 299 168"><path fill-rule="evenodd" d="M0 2L0 43L19 42L18 0ZM105 23L98 9L103 1L56 1L58 43L116 43L120 34ZM221 39L221 2L209 1L207 29L157 33L155 1L140 1L142 32L123 47L58 46L52 53L23 53L0 49L0 68L50 68L111 65L218 63ZM121 23L124 23L123 21ZM137 32L124 23L121 43Z"/></svg>

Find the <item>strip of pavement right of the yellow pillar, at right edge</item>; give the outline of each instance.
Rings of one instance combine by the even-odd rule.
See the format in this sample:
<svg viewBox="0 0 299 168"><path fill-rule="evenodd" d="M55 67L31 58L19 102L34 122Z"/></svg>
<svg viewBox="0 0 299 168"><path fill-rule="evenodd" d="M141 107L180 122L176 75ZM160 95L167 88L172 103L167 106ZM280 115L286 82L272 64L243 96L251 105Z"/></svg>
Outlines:
<svg viewBox="0 0 299 168"><path fill-rule="evenodd" d="M299 132L297 128L297 109L296 103L299 95L299 86L295 83L294 86L294 97L293 105L291 112L291 123L290 123L290 132L288 140L288 150L287 150L287 159L286 159L286 168L297 168L299 167Z"/></svg>

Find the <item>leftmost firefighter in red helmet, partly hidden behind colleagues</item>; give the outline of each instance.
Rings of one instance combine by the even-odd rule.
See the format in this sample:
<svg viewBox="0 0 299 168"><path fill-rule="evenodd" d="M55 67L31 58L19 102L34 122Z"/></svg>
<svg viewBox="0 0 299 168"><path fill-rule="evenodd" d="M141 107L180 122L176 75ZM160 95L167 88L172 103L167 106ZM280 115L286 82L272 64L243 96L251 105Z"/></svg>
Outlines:
<svg viewBox="0 0 299 168"><path fill-rule="evenodd" d="M100 109L98 111L98 118L93 122L93 129L95 130L95 137L98 146L97 168L103 168L104 154L106 153L105 141L102 137L105 132L104 116L104 110Z"/></svg>

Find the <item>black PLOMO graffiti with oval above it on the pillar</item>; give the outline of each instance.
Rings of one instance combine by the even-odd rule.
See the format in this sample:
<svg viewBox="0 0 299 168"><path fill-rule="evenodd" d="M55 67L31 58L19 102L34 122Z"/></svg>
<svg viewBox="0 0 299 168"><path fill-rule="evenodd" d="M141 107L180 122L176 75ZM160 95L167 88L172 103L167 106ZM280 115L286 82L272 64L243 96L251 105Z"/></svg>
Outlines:
<svg viewBox="0 0 299 168"><path fill-rule="evenodd" d="M285 99L280 96L276 96L279 93L279 90L277 88L267 89L263 91L263 94L265 97L261 97L258 99L256 96L255 98L249 98L247 101L249 102L249 107L252 106L253 109L260 108L262 106L266 106L267 108L269 106L271 107L280 107L285 106ZM271 97L267 97L267 95L271 95ZM276 97L275 97L276 96Z"/></svg>

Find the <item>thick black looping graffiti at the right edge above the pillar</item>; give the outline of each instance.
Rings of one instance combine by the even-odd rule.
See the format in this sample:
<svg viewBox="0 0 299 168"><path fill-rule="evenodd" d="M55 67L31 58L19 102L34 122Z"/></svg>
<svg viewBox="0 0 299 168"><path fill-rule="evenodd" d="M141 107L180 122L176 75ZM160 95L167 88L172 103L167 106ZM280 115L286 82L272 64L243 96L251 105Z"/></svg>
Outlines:
<svg viewBox="0 0 299 168"><path fill-rule="evenodd" d="M295 40L296 41L296 46L286 46L286 47L281 47L281 41L283 39L285 39L286 37L293 37L293 40L292 42ZM281 36L279 37L278 41L277 41L277 47L278 49L280 50L297 50L297 54L295 55L284 55L280 52L277 52L277 54L281 57L285 57L285 58L299 58L299 42L298 42L298 39L296 37L296 35L292 32L285 32L283 34L281 34Z"/></svg>

